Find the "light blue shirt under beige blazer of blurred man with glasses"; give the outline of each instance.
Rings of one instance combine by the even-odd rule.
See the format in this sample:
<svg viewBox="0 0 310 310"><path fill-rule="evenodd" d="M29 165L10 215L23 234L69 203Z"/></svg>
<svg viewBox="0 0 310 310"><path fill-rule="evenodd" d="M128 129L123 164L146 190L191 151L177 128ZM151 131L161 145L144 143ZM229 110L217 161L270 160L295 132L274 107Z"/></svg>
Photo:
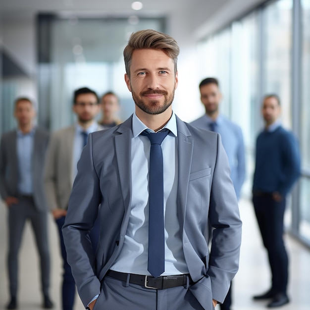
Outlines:
<svg viewBox="0 0 310 310"><path fill-rule="evenodd" d="M84 137L82 135L82 132L87 132L87 134L90 134L92 132L95 132L97 130L100 130L101 127L98 125L97 122L94 121L94 123L85 130L82 126L79 124L75 125L75 136L74 136L74 143L73 143L73 154L72 154L72 184L73 180L75 179L77 175L77 163L81 157L82 150L84 147Z"/></svg>

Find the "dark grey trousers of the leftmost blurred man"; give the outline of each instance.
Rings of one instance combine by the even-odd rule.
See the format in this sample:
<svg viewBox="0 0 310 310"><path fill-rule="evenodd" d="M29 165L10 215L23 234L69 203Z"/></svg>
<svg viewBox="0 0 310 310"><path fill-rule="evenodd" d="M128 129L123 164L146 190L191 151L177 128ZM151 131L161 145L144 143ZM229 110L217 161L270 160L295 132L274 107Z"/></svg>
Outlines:
<svg viewBox="0 0 310 310"><path fill-rule="evenodd" d="M48 246L47 219L47 211L37 211L32 199L19 199L17 204L13 204L8 208L9 243L7 265L11 296L16 297L17 294L18 253L26 220L30 220L31 222L40 255L42 292L45 295L48 294L50 286L50 253Z"/></svg>

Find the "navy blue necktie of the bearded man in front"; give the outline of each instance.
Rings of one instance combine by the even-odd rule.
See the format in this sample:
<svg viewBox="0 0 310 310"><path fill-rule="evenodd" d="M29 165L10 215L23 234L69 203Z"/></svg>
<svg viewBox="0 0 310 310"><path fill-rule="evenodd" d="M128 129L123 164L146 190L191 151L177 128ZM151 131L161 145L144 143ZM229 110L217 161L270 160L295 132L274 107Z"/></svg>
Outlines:
<svg viewBox="0 0 310 310"><path fill-rule="evenodd" d="M149 169L149 256L148 270L157 278L165 270L163 167L161 143L169 130L157 133L142 132L151 142Z"/></svg>

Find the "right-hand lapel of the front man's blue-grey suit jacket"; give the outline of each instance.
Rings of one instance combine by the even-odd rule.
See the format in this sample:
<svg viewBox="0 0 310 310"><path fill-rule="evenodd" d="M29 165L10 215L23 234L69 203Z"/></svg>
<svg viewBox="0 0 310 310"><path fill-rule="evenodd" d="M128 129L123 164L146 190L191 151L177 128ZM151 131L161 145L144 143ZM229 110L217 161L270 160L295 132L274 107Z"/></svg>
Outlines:
<svg viewBox="0 0 310 310"><path fill-rule="evenodd" d="M178 117L176 119L178 128L178 155L179 155L177 208L178 208L179 222L184 225L194 141L185 123L182 122Z"/></svg>

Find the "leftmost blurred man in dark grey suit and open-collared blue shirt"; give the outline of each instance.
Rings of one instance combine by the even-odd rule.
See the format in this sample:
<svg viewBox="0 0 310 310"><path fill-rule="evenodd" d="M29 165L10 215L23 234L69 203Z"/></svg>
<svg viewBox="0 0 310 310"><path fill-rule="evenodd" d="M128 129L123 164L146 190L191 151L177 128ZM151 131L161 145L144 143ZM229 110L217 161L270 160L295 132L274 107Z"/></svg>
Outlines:
<svg viewBox="0 0 310 310"><path fill-rule="evenodd" d="M43 307L53 307L49 297L50 253L47 204L43 190L43 167L49 134L35 127L36 112L28 98L15 101L17 130L3 134L0 145L0 193L8 208L8 276L10 302L17 308L18 252L26 220L30 220L40 255Z"/></svg>

